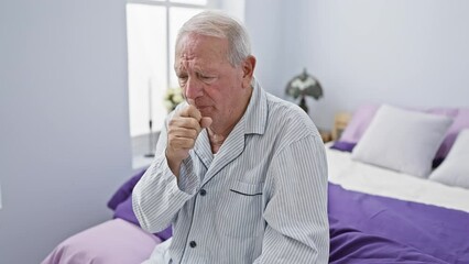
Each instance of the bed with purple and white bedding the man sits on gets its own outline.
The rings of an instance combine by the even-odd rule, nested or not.
[[[326,144],[329,263],[469,263],[469,109],[364,105]],[[131,191],[114,218],[59,243],[42,264],[132,264],[171,238],[139,228]]]

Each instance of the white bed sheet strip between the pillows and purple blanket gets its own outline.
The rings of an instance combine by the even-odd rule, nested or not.
[[[352,161],[326,144],[329,182],[345,189],[469,212],[469,190]]]

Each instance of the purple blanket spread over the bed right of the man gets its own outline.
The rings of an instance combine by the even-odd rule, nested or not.
[[[330,263],[469,263],[469,213],[329,184]]]

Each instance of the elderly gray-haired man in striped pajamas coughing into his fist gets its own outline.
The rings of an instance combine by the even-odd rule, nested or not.
[[[302,109],[261,88],[254,67],[246,29],[222,13],[197,14],[178,33],[186,101],[133,190],[143,229],[173,224],[155,250],[164,263],[328,262],[321,138]]]

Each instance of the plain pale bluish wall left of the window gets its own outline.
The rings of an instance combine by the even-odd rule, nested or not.
[[[131,175],[124,0],[2,1],[0,263],[40,263]]]

